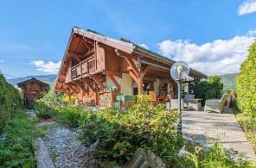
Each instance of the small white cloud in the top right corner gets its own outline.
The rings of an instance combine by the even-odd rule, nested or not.
[[[256,0],[247,0],[238,7],[238,15],[243,16],[256,12]]]

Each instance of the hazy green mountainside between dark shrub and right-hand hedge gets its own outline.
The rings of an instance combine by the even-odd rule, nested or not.
[[[236,78],[239,73],[221,75],[223,90],[236,90]]]

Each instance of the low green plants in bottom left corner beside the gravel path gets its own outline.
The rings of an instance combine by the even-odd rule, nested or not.
[[[24,111],[16,113],[3,129],[0,167],[34,167],[32,141],[36,134],[35,121],[28,119]]]

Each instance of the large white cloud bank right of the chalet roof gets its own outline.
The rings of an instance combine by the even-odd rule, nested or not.
[[[250,35],[236,35],[229,40],[213,40],[202,45],[189,40],[163,40],[157,47],[170,59],[188,62],[190,67],[214,75],[239,72],[253,39]]]

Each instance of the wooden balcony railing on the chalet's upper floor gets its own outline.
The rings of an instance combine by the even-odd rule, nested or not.
[[[91,56],[71,68],[71,78],[83,78],[86,77],[88,73],[95,72],[95,70],[96,59],[94,56]]]

